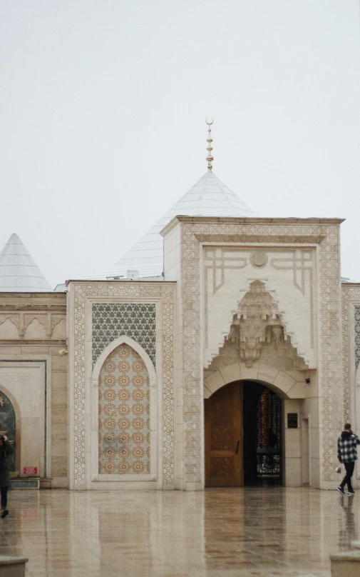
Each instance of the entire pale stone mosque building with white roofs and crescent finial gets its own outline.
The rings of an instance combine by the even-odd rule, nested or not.
[[[257,217],[212,172],[210,126],[207,173],[110,271],[52,291],[16,234],[1,251],[14,486],[336,487],[360,428],[341,219]]]

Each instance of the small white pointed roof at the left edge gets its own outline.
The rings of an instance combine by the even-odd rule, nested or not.
[[[0,291],[52,292],[45,276],[17,234],[11,234],[0,253]]]

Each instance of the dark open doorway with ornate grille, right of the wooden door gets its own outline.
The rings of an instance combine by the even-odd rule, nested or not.
[[[244,484],[282,484],[281,398],[264,385],[243,381]]]

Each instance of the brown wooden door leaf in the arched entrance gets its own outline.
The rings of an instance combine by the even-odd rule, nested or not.
[[[242,463],[242,383],[230,383],[205,399],[205,485],[240,487]]]

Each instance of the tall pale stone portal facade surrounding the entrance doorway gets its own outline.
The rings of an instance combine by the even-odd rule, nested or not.
[[[183,407],[183,423],[178,427],[178,439],[183,443],[179,488],[204,486],[203,371],[219,354],[242,298],[254,280],[264,283],[277,304],[282,330],[297,348],[299,363],[300,359],[305,363],[307,370],[301,374],[301,383],[310,378],[305,399],[300,403],[287,397],[291,387],[285,379],[282,388],[281,371],[275,376],[277,388],[286,399],[285,411],[292,408],[303,416],[311,415],[307,418],[311,437],[310,483],[320,488],[334,485],[334,447],[343,418],[340,224],[339,219],[178,216],[163,230],[165,279],[178,281],[177,338],[181,352],[176,388],[178,405]],[[243,374],[241,362],[240,373]],[[259,378],[256,368],[248,374],[252,376],[246,378]],[[293,384],[297,378],[300,377],[292,379]],[[264,383],[269,380],[264,379]],[[301,483],[300,443],[300,431],[289,431],[284,450],[297,463],[285,463],[287,485]]]

